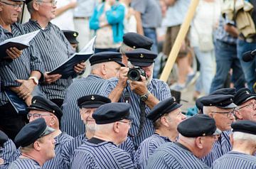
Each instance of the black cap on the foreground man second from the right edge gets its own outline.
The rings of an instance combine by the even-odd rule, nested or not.
[[[215,120],[206,114],[196,114],[178,124],[178,132],[186,137],[213,136],[221,133]]]

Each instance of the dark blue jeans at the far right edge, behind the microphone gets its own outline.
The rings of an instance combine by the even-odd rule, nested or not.
[[[242,54],[249,51],[255,50],[256,43],[247,43],[244,40],[238,40],[238,58],[240,59],[242,70],[245,73],[245,80],[247,82],[248,88],[253,92],[252,89],[253,84],[256,82],[256,60],[252,60],[250,62],[242,61]]]

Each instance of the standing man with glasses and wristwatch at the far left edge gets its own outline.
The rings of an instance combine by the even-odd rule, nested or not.
[[[0,42],[26,33],[23,26],[16,23],[18,14],[22,11],[23,1],[3,0],[0,5]],[[16,59],[11,62],[6,60],[0,62],[1,87],[15,92],[28,105],[31,104],[31,93],[38,84],[38,80],[43,80],[41,77],[44,72],[43,63],[38,58],[39,53],[34,48],[33,40],[30,45],[22,51],[9,48],[6,50],[7,55]],[[5,54],[1,53],[1,55]],[[26,116],[17,114],[18,112],[4,94],[4,90],[0,91],[0,129],[14,140],[18,131],[26,124]]]

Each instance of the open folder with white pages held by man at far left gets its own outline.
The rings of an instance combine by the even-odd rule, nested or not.
[[[16,47],[18,50],[28,48],[29,42],[39,33],[39,31],[40,30],[33,31],[31,33],[26,33],[22,36],[16,36],[14,38],[4,40],[0,43],[0,53],[6,53],[7,49],[13,47]],[[6,55],[1,55],[1,58],[6,57]]]

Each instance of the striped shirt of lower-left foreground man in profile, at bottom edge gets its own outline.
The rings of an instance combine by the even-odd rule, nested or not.
[[[41,166],[30,158],[18,158],[11,163],[9,169],[41,169]]]

